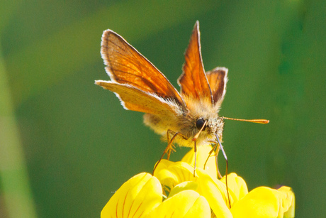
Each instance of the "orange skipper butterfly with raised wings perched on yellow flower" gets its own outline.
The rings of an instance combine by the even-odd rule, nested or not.
[[[220,141],[224,120],[231,118],[218,113],[225,97],[228,70],[225,67],[204,70],[198,21],[186,49],[183,73],[178,79],[180,92],[157,67],[111,30],[103,32],[101,57],[111,81],[96,80],[96,85],[114,92],[125,109],[145,113],[144,123],[168,142],[161,159],[165,153],[169,158],[174,150],[173,143],[194,147],[195,168],[197,146],[214,143],[215,148],[218,146],[223,151]],[[269,122],[264,119],[233,120]],[[226,158],[224,151],[223,155]]]

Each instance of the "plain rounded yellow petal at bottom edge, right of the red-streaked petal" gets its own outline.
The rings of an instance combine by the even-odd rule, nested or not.
[[[210,217],[210,207],[207,200],[193,190],[185,190],[169,197],[153,209],[148,218],[160,217]]]

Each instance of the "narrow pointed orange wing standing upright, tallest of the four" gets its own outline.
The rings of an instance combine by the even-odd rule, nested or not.
[[[201,58],[201,41],[199,22],[197,21],[191,35],[188,48],[185,53],[186,62],[183,66],[183,73],[178,83],[181,87],[181,94],[186,94],[194,99],[208,99],[213,104],[213,99],[208,85],[208,80]]]

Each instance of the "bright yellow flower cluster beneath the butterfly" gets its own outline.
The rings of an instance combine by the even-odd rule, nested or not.
[[[290,187],[257,187],[248,192],[245,180],[235,173],[227,175],[230,207],[225,177],[217,179],[215,158],[209,158],[203,169],[210,150],[210,146],[198,148],[195,177],[189,151],[180,162],[161,160],[154,176],[140,173],[130,178],[103,208],[101,218],[294,217]]]

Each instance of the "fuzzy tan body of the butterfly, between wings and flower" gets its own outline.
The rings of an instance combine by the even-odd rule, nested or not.
[[[218,116],[220,104],[212,106],[211,102],[208,101],[186,96],[183,98],[186,102],[186,109],[178,107],[176,113],[165,116],[145,114],[145,124],[162,135],[164,141],[167,141],[168,130],[171,132],[169,138],[172,138],[173,133],[180,133],[182,136],[177,136],[174,140],[179,146],[193,147],[193,136],[199,131],[196,127],[198,119],[207,121],[205,128],[196,139],[198,146],[215,141],[215,134],[222,138],[224,122]]]

